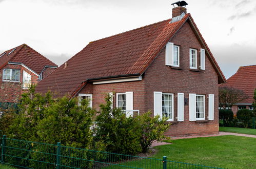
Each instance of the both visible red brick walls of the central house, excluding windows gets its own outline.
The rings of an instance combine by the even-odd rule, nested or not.
[[[171,38],[170,42],[180,46],[179,69],[165,66],[165,49],[161,51],[142,76],[141,81],[107,83],[92,85],[89,82],[79,93],[92,94],[92,106],[99,110],[99,104],[104,103],[104,94],[108,92],[133,92],[133,110],[140,113],[151,110],[153,113],[153,92],[174,94],[174,121],[166,135],[194,135],[219,132],[218,118],[218,74],[214,70],[209,56],[205,57],[205,70],[189,69],[189,49],[197,49],[198,68],[200,66],[199,43],[188,22]],[[189,121],[189,105],[184,105],[184,121],[177,122],[177,93],[184,93],[189,99],[189,93],[205,95],[205,120]],[[214,94],[214,120],[208,121],[208,94]],[[116,95],[115,95],[116,97]],[[115,101],[114,101],[115,106]]]

